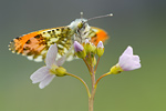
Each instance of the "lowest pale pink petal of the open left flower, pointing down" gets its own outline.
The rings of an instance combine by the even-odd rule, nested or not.
[[[40,84],[39,84],[39,88],[40,89],[43,89],[44,87],[46,87],[54,78],[55,75],[54,74],[49,74],[46,78],[44,78]]]

